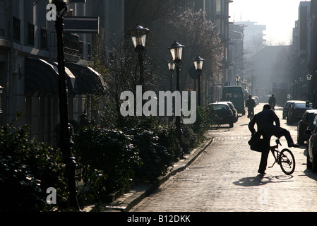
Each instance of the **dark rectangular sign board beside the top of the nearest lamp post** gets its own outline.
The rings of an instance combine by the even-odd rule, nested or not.
[[[65,16],[64,32],[99,34],[99,17]]]

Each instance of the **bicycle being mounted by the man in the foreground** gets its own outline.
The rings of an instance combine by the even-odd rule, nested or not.
[[[278,145],[282,145],[280,143],[280,138],[277,138],[275,143],[276,145],[270,146],[270,151],[275,158],[275,162],[269,168],[272,168],[275,165],[275,163],[277,163],[278,165],[280,165],[282,172],[284,172],[287,175],[292,174],[295,170],[295,157],[293,153],[287,148],[284,148],[281,151],[278,150]]]

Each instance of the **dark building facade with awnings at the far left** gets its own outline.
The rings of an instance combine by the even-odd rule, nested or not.
[[[123,7],[124,1],[86,0],[68,4],[67,16],[100,16],[99,35],[108,37],[114,27],[123,32]],[[49,10],[47,1],[0,1],[0,126],[29,124],[30,138],[56,145],[57,48],[54,20],[47,20]],[[106,17],[107,12],[111,13]],[[106,40],[105,46],[109,43]],[[79,122],[82,114],[93,117],[90,97],[104,94],[102,78],[89,66],[93,44],[92,34],[64,32],[70,121]]]

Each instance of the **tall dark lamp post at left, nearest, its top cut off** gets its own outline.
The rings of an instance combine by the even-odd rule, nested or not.
[[[67,0],[50,0],[50,4],[56,6],[56,36],[57,36],[57,61],[59,70],[59,114],[60,114],[60,141],[59,146],[63,154],[64,163],[66,165],[66,178],[68,181],[69,191],[69,205],[79,210],[77,201],[75,169],[77,162],[71,153],[73,141],[71,140],[70,124],[68,123],[68,104],[66,93],[66,76],[65,76],[65,59],[64,59],[64,44],[63,44],[63,30],[64,30],[64,15],[67,12]]]

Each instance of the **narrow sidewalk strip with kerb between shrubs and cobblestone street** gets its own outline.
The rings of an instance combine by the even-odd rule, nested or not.
[[[128,212],[133,206],[136,206],[136,204],[142,201],[143,198],[155,191],[155,189],[166,182],[170,177],[191,165],[191,163],[196,160],[196,158],[201,155],[212,142],[212,132],[208,131],[205,142],[198,146],[198,148],[192,150],[191,153],[185,155],[184,160],[179,160],[179,162],[176,162],[173,166],[169,167],[166,175],[159,177],[153,184],[138,184],[133,186],[130,191],[119,198],[116,198],[112,203],[102,203],[100,205],[100,208],[102,209],[101,212]],[[85,206],[83,212],[90,212],[94,207],[95,205]]]

